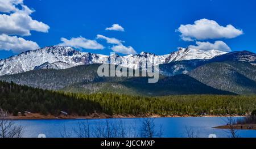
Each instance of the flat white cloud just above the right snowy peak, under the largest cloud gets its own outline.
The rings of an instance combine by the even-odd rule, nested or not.
[[[188,48],[199,50],[221,50],[224,52],[230,52],[231,49],[223,41],[215,41],[214,44],[210,42],[196,42],[197,45],[189,45]]]

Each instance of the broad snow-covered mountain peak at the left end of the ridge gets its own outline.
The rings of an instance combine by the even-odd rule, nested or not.
[[[49,68],[67,69],[69,67],[97,63],[104,59],[100,54],[79,52],[71,47],[48,46],[43,49],[30,50],[0,61],[0,75],[16,74],[25,71],[47,68],[46,63],[51,64]],[[54,64],[53,64],[54,63]],[[65,65],[64,65],[65,63]],[[56,67],[53,65],[57,65]],[[61,66],[62,65],[62,66]]]

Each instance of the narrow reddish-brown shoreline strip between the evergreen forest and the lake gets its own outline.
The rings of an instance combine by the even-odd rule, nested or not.
[[[148,114],[144,116],[133,116],[133,115],[121,115],[121,114],[114,114],[113,116],[110,116],[108,114],[98,114],[93,113],[90,116],[76,116],[76,115],[70,115],[70,116],[53,116],[53,115],[47,115],[44,116],[42,114],[38,113],[30,113],[26,114],[24,116],[9,116],[8,118],[12,120],[85,120],[85,119],[108,119],[108,118],[182,118],[182,117],[229,117],[229,116],[218,116],[218,115],[199,115],[199,116],[160,116],[157,114]],[[232,117],[245,117],[244,115],[233,115]]]

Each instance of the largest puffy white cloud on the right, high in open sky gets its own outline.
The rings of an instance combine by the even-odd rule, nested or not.
[[[196,20],[194,24],[180,25],[176,31],[181,33],[181,39],[184,41],[232,39],[243,34],[241,29],[236,29],[231,24],[224,27],[216,21],[208,19]]]

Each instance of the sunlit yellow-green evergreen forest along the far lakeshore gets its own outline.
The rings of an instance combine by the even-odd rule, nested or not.
[[[199,116],[246,114],[256,107],[256,96],[232,95],[179,95],[164,97],[143,97],[116,95],[111,93],[85,95],[101,104],[104,111],[113,114],[159,114],[162,116]]]

